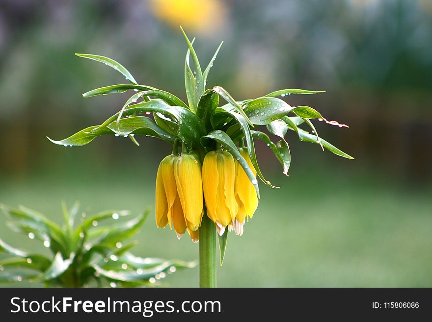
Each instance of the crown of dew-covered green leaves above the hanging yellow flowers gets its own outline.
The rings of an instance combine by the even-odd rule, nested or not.
[[[126,68],[110,58],[77,54],[107,64],[132,83],[98,88],[84,93],[84,97],[124,93],[128,90],[134,90],[138,93],[128,99],[120,111],[108,118],[103,124],[87,127],[64,140],[50,140],[63,146],[81,146],[91,142],[97,136],[114,134],[116,136],[129,136],[138,145],[135,135],[145,135],[162,139],[170,144],[173,144],[174,140],[177,139],[179,142],[185,143],[186,149],[193,150],[201,158],[208,151],[221,147],[229,151],[242,165],[254,185],[258,197],[258,182],[238,150],[238,146],[243,146],[244,141],[258,177],[272,188],[276,187],[265,179],[258,166],[254,139],[264,140],[267,143],[267,146],[283,166],[283,173],[287,176],[291,165],[291,152],[285,140],[288,129],[295,131],[300,141],[319,144],[323,150],[325,148],[336,155],[353,159],[349,154],[337,149],[318,136],[315,126],[310,121],[311,119],[325,120],[318,111],[309,106],[290,106],[284,100],[277,98],[284,98],[291,94],[317,94],[324,91],[282,89],[264,97],[237,101],[220,86],[206,90],[207,76],[222,44],[217,48],[203,73],[193,48],[195,39],[189,41],[183,29],[182,32],[188,44],[185,60],[185,88],[189,106],[171,93],[147,85],[138,85]],[[227,103],[219,106],[220,98]],[[137,102],[138,99],[143,101]],[[140,116],[144,113],[153,113],[154,121],[148,117]],[[346,126],[338,124],[336,121],[331,122],[340,127]],[[301,129],[299,127],[301,124],[308,125],[314,134]],[[268,134],[257,131],[256,126],[259,125],[266,125],[270,135],[276,136],[278,142],[273,143]],[[219,246],[221,260],[223,260],[226,237],[220,240]],[[104,275],[103,268],[97,272]]]

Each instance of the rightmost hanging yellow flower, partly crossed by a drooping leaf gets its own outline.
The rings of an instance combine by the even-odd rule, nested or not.
[[[256,177],[256,170],[250,161],[247,148],[240,148],[240,154],[246,160],[249,168],[252,170]],[[236,180],[235,180],[235,195],[237,203],[239,204],[239,211],[236,218],[233,220],[232,229],[237,235],[243,235],[244,221],[253,217],[253,214],[258,207],[258,197],[255,187],[250,182],[247,174],[244,172],[243,167],[239,162],[236,163]]]

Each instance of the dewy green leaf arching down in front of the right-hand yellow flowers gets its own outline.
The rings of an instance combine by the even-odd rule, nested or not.
[[[207,134],[206,136],[203,136],[201,138],[200,141],[201,141],[201,145],[203,147],[207,146],[206,140],[208,140],[208,139],[215,140],[218,144],[223,145],[227,149],[227,151],[233,155],[234,159],[236,159],[237,162],[239,162],[240,165],[242,166],[242,168],[243,168],[244,172],[247,174],[247,177],[249,178],[250,182],[252,182],[253,186],[255,187],[258,198],[260,198],[260,190],[258,188],[258,181],[255,178],[255,174],[253,174],[252,170],[247,165],[246,160],[244,160],[243,156],[239,152],[239,149],[237,149],[236,145],[231,140],[231,138],[225,132],[223,132],[221,130],[212,131],[209,134]]]

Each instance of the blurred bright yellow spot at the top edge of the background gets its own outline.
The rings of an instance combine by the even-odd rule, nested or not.
[[[153,14],[165,23],[201,34],[218,29],[226,7],[220,0],[151,0]]]

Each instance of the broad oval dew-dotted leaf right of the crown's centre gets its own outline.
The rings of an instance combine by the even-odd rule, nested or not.
[[[292,107],[282,99],[259,98],[244,104],[244,113],[253,124],[267,125],[287,115]]]

